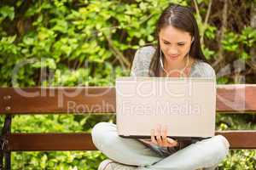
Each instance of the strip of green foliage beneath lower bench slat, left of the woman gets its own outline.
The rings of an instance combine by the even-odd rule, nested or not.
[[[100,151],[66,152],[14,152],[13,169],[55,169],[77,170],[97,169],[100,161],[106,159]]]

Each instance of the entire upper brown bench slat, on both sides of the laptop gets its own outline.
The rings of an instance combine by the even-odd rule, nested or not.
[[[114,87],[0,88],[0,114],[114,113]],[[10,99],[6,99],[10,96]],[[218,85],[218,112],[255,112],[256,84]],[[4,99],[5,98],[5,99]],[[8,110],[9,109],[9,110]]]

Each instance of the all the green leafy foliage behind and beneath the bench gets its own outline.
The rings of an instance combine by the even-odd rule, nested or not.
[[[115,77],[129,76],[135,49],[154,44],[155,23],[169,3],[188,0],[53,0],[3,1],[0,4],[0,84],[2,87],[112,86]],[[209,1],[197,1],[206,14]],[[251,3],[250,3],[251,4]],[[218,54],[218,30],[195,15],[203,52],[209,61]],[[256,31],[227,28],[221,45],[224,55],[251,59]],[[212,44],[215,44],[212,45]],[[235,56],[235,57],[234,57]],[[42,73],[45,77],[41,77]],[[218,83],[230,83],[218,77]],[[249,120],[255,120],[250,117]],[[3,122],[3,116],[1,117]],[[114,116],[15,116],[12,132],[90,132],[97,122]],[[236,122],[237,121],[237,122]],[[219,116],[221,130],[255,129],[236,116]],[[251,123],[251,124],[250,124]],[[2,123],[3,124],[3,123]],[[244,127],[244,125],[248,125]],[[99,151],[15,152],[13,169],[96,169],[105,159]],[[231,150],[220,169],[253,169],[255,151]]]

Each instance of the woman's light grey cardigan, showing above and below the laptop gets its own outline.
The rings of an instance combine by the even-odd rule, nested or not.
[[[149,77],[148,71],[154,52],[155,48],[152,46],[139,48],[137,50],[131,65],[131,77]],[[191,66],[189,77],[216,77],[216,75],[211,65],[201,60],[197,60]],[[177,150],[181,150],[184,147],[188,146],[189,144],[195,143],[197,141],[198,139],[191,139],[190,141],[181,143],[180,147],[178,148],[166,148],[151,144],[146,145],[148,145],[152,150],[155,150],[157,153],[159,153],[160,156],[169,156],[170,154],[176,152]]]

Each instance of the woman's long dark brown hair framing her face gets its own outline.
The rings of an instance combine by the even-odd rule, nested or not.
[[[160,53],[162,52],[160,52],[159,33],[160,29],[164,28],[165,26],[174,26],[179,30],[189,32],[191,37],[194,37],[194,42],[191,44],[191,48],[189,50],[189,56],[203,61],[207,60],[201,50],[199,30],[191,9],[174,4],[164,10],[157,22],[155,30],[157,46],[154,56],[150,62],[148,72],[149,77],[160,77]]]

